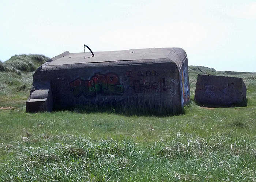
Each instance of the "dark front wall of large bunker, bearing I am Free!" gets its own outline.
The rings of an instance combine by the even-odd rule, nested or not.
[[[54,109],[99,105],[178,114],[190,96],[187,69],[187,60],[181,72],[173,62],[42,66],[33,86],[37,90],[41,83],[50,83]]]

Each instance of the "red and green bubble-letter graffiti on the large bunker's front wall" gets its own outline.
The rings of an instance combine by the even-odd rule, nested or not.
[[[96,94],[123,94],[124,85],[116,73],[95,73],[89,80],[75,79],[69,83],[71,91],[75,96],[84,94],[95,96]]]

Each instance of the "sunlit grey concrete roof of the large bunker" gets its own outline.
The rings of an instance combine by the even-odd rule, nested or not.
[[[53,57],[42,66],[63,67],[72,64],[90,63],[116,63],[116,64],[135,64],[135,63],[157,63],[174,62],[180,70],[182,63],[186,60],[187,54],[181,48],[150,48],[150,49],[130,49],[106,52],[94,52],[94,57],[90,52],[69,53],[64,52]],[[121,62],[122,61],[122,62]]]

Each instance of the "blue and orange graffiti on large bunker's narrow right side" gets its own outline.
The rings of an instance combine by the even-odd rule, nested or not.
[[[188,66],[184,65],[184,68],[180,71],[180,73],[181,105],[184,106],[190,100],[190,93],[188,88]]]

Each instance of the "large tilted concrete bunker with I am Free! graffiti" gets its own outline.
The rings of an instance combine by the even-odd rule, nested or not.
[[[181,48],[94,54],[65,52],[39,67],[27,112],[97,105],[172,115],[190,99],[187,54]],[[42,109],[31,109],[36,105]]]

